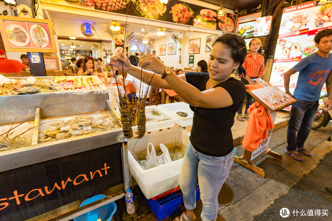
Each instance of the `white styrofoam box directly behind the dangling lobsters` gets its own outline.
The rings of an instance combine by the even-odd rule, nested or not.
[[[151,111],[157,111],[161,113],[161,116],[153,116],[151,115]],[[151,132],[151,131],[158,131],[161,129],[169,128],[169,127],[174,127],[175,125],[175,120],[176,118],[170,114],[168,111],[165,109],[159,108],[156,105],[151,105],[151,106],[146,106],[145,107],[145,116],[150,117],[150,118],[155,118],[156,120],[158,119],[163,119],[163,121],[159,122],[146,122],[145,124],[145,133]],[[169,119],[169,120],[164,120],[164,119]],[[132,127],[132,132],[135,133],[137,131],[137,126]]]

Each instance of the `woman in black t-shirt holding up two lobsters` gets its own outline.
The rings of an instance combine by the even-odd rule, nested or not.
[[[180,187],[186,212],[175,221],[196,219],[196,186],[200,184],[203,221],[215,220],[218,214],[218,193],[234,161],[231,127],[245,98],[246,90],[240,81],[230,77],[245,74],[242,67],[246,44],[238,35],[225,33],[215,39],[208,59],[208,73],[176,75],[153,54],[143,55],[139,61],[144,83],[173,89],[194,111],[190,143],[183,159]],[[141,78],[141,68],[133,67],[120,52],[111,62],[135,78]],[[161,75],[161,78],[158,77]]]

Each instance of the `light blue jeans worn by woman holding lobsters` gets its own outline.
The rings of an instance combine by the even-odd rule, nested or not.
[[[180,188],[187,209],[196,207],[196,187],[200,185],[203,221],[215,220],[218,214],[218,194],[234,162],[234,151],[226,156],[214,157],[197,151],[188,144],[183,158]]]

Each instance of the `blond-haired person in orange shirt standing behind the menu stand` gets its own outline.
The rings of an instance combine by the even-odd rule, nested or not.
[[[250,52],[247,54],[246,59],[244,60],[243,67],[246,70],[247,75],[241,78],[241,82],[246,84],[256,84],[257,82],[253,81],[255,78],[262,78],[265,71],[264,57],[260,55],[257,51],[262,47],[262,42],[259,38],[253,38],[249,43]],[[242,115],[242,107],[237,112],[237,119],[239,121],[248,120],[249,115],[247,110],[250,105],[254,103],[254,97],[247,93],[247,104],[246,110],[244,111],[244,117]]]

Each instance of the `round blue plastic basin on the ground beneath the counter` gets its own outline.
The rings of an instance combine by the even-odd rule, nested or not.
[[[97,201],[99,199],[102,199],[104,197],[106,197],[106,196],[103,194],[95,195],[91,198],[84,200],[81,203],[80,207],[84,206],[86,204],[89,204],[91,202]],[[111,219],[116,211],[117,211],[117,204],[115,204],[115,202],[111,202],[105,206],[99,207],[98,209],[94,209],[90,212],[80,215],[80,216],[74,218],[73,220],[74,221],[97,221],[98,219],[101,219],[101,221],[104,221],[104,220],[111,221]]]

